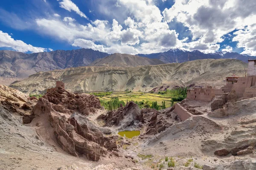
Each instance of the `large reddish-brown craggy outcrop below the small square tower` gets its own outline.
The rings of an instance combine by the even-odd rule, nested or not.
[[[38,134],[44,138],[47,130],[48,136],[51,136],[47,140],[57,142],[65,152],[98,161],[107,150],[117,146],[114,137],[105,137],[103,129],[97,128],[82,116],[93,114],[95,108],[101,108],[95,96],[74,95],[58,88],[38,100],[33,108],[34,119],[31,123],[40,122]]]

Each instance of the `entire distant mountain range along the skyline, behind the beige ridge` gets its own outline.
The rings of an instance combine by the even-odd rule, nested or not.
[[[169,50],[155,54],[107,54],[92,49],[71,51],[57,50],[25,54],[17,51],[0,51],[0,84],[9,85],[38,71],[61,70],[80,66],[136,67],[139,65],[158,65],[163,63],[181,63],[196,59],[239,59],[247,62],[248,58],[238,53],[217,52],[204,54],[198,50]]]

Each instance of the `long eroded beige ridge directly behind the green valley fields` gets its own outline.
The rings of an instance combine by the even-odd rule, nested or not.
[[[57,80],[73,92],[147,91],[169,83],[171,85],[223,85],[223,79],[236,74],[244,76],[247,64],[236,59],[202,59],[184,63],[146,65],[130,68],[78,67],[48,72],[38,72],[11,85],[26,94],[54,87]]]

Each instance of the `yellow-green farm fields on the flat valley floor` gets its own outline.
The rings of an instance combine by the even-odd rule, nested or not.
[[[166,108],[171,107],[172,104],[172,97],[162,95],[162,94],[151,94],[151,93],[143,93],[143,92],[131,92],[131,93],[126,93],[125,91],[114,91],[110,95],[106,96],[97,96],[101,101],[107,102],[110,101],[111,99],[118,97],[119,100],[124,101],[125,103],[128,101],[134,101],[134,102],[144,102],[148,103],[149,106],[152,105],[152,102],[157,101],[157,105],[162,105],[162,101],[165,101]],[[176,102],[174,102],[176,103]],[[143,105],[143,108],[145,104]]]

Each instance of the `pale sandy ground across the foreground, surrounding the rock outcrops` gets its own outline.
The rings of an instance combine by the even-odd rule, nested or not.
[[[201,105],[201,111],[209,109],[209,103],[188,102],[189,105]],[[88,116],[95,125],[102,126],[96,118],[106,113],[105,110],[97,110],[94,115]],[[242,136],[250,136],[250,128],[256,127],[256,123],[241,125],[242,120],[256,118],[256,114],[239,114],[227,118],[210,118],[207,113],[202,115],[207,119],[216,122],[219,129],[210,125],[203,119],[196,123],[180,122],[176,124],[179,131],[172,133],[175,125],[169,127],[163,135],[156,140],[156,136],[141,139],[119,138],[118,154],[101,157],[98,162],[88,161],[84,158],[76,158],[58,149],[57,144],[47,144],[40,139],[34,126],[23,125],[20,116],[0,116],[0,170],[158,170],[163,164],[162,170],[186,170],[197,169],[193,165],[218,165],[231,163],[235,160],[256,159],[255,150],[253,153],[242,156],[216,156],[214,148],[204,146],[207,140],[224,142],[225,138],[233,131],[240,131],[241,134],[233,135],[237,140]],[[191,128],[187,128],[191,126]],[[193,127],[192,127],[193,126]],[[116,127],[110,127],[112,135],[116,135]],[[137,129],[143,131],[143,128]],[[253,129],[252,129],[253,130]],[[254,129],[255,130],[255,129]],[[169,133],[170,132],[170,133]],[[250,137],[255,137],[251,135]],[[150,157],[143,159],[140,154]],[[168,167],[165,157],[175,161],[175,167]],[[190,160],[189,167],[184,164]],[[157,167],[158,166],[158,167]]]

